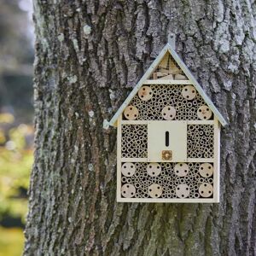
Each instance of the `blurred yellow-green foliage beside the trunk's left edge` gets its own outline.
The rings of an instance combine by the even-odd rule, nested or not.
[[[0,113],[0,224],[23,226],[26,192],[32,168],[32,135],[29,125],[15,126],[10,114]],[[4,120],[4,122],[3,122]],[[12,223],[10,223],[12,222]]]

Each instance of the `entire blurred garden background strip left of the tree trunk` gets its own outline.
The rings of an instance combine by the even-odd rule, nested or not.
[[[0,256],[20,255],[32,166],[31,0],[0,3]]]

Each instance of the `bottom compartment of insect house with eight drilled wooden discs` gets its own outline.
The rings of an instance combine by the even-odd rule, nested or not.
[[[217,202],[213,163],[123,162],[118,201]]]

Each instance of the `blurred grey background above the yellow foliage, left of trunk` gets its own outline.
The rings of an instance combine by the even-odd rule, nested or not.
[[[32,33],[30,1],[2,0],[0,8],[0,109],[19,121],[32,119]]]

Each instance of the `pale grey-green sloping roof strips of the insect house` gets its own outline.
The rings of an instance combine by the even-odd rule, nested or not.
[[[172,44],[167,43],[166,46],[160,51],[160,54],[156,57],[156,59],[153,61],[153,63],[148,67],[148,70],[146,73],[144,73],[143,77],[138,81],[136,86],[131,90],[130,95],[125,99],[125,102],[121,105],[119,110],[113,115],[113,118],[109,121],[109,125],[116,126],[117,119],[119,118],[119,115],[123,113],[125,108],[129,105],[132,98],[137,94],[137,91],[143,86],[143,83],[148,79],[150,74],[154,71],[154,69],[158,66],[164,55],[166,55],[166,52],[169,52],[173,59],[177,62],[177,65],[181,67],[183,70],[183,73],[187,76],[191,84],[195,86],[195,89],[199,92],[201,97],[207,102],[207,105],[209,108],[211,108],[212,113],[215,114],[218,121],[221,123],[221,125],[225,126],[228,125],[227,121],[224,119],[221,113],[219,113],[218,109],[214,106],[211,99],[206,95],[205,91],[201,88],[201,85],[196,81],[193,74],[189,71],[189,68],[185,65],[185,63],[182,61],[182,59],[177,55],[177,52],[172,48]]]

